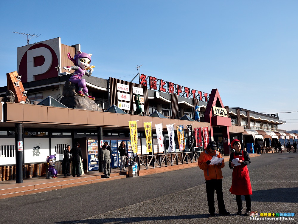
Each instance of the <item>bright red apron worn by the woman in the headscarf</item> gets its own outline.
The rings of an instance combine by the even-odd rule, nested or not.
[[[236,158],[245,161],[243,151],[242,156],[235,156],[234,152],[234,159]],[[246,165],[241,164],[234,167],[230,192],[236,195],[252,194],[252,185],[250,184],[249,173]]]

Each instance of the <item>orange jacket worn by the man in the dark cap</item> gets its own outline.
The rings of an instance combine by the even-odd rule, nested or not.
[[[221,158],[220,152],[216,151],[216,157]],[[222,179],[224,178],[221,172],[221,168],[224,168],[224,160],[219,165],[207,165],[207,161],[211,160],[212,156],[205,150],[201,152],[198,159],[198,165],[201,170],[204,170],[205,180]]]

